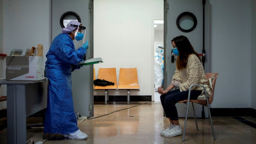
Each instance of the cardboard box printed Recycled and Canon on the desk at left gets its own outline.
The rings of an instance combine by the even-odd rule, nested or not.
[[[44,57],[6,57],[6,80],[36,81],[40,79],[44,79]]]

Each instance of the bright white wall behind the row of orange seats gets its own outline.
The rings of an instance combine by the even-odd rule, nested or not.
[[[131,95],[153,95],[154,20],[163,19],[163,9],[163,1],[94,1],[94,58],[103,59],[94,65],[96,78],[99,68],[116,68],[118,82],[119,68],[137,68],[140,91]]]

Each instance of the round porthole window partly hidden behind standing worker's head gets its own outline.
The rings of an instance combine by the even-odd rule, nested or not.
[[[76,20],[81,23],[81,19],[77,13],[71,11],[63,13],[60,17],[61,28],[66,28],[68,23],[72,20]]]

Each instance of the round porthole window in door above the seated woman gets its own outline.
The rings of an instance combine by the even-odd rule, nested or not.
[[[178,16],[176,20],[176,25],[180,31],[183,31],[184,33],[189,33],[196,28],[196,16],[191,12],[183,12]]]

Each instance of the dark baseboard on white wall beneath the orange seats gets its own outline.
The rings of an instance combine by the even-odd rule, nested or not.
[[[109,101],[127,101],[127,95],[109,95]],[[94,95],[94,101],[105,101],[105,95]],[[151,95],[130,95],[130,101],[151,101]]]

